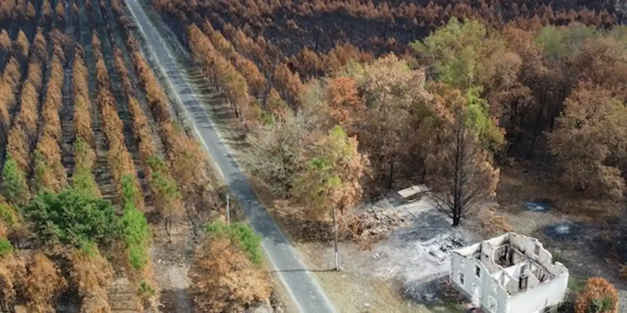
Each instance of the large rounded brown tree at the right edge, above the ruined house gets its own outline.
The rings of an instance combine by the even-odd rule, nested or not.
[[[627,109],[599,86],[581,84],[565,101],[559,129],[548,135],[561,181],[594,197],[623,198]]]

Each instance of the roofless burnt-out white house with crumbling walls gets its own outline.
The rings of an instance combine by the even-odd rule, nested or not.
[[[568,269],[537,239],[505,233],[454,250],[450,280],[485,312],[544,313],[564,300]]]

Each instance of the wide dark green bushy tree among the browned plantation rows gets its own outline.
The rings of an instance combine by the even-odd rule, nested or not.
[[[44,192],[24,208],[40,239],[58,240],[77,248],[108,244],[117,233],[115,208],[108,200],[76,190]]]

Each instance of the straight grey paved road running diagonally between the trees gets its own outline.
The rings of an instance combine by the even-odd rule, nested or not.
[[[173,51],[167,44],[164,44],[164,38],[149,20],[137,0],[127,0],[127,4],[140,31],[147,39],[147,45],[154,53],[155,60],[160,64],[167,80],[172,85],[172,90],[176,93],[175,96],[179,98],[178,100],[186,109],[196,135],[201,139],[204,148],[219,168],[219,172],[221,172],[219,174],[231,190],[236,193],[238,202],[243,205],[251,226],[255,232],[261,235],[261,244],[266,256],[277,271],[295,306],[300,309],[300,312],[334,312],[333,305],[319,284],[307,272],[307,268],[298,257],[297,252],[270,215],[261,207],[240,167],[224,146],[207,111],[194,93],[192,85],[187,83],[184,74],[181,74],[184,73],[185,69],[177,63]]]

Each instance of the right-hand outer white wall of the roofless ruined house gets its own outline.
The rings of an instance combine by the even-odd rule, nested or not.
[[[549,305],[559,304],[564,300],[568,273],[536,285],[525,292],[515,294],[508,301],[507,313],[536,313]]]

